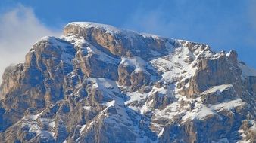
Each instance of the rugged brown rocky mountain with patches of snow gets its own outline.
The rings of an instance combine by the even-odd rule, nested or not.
[[[1,142],[256,141],[256,71],[234,50],[69,23],[2,78]]]

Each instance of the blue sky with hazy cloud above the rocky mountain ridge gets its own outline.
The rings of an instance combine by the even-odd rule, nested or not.
[[[4,37],[1,32],[21,36],[25,32],[27,36],[24,36],[23,41],[28,41],[23,44],[20,40],[17,43],[20,46],[5,46],[5,55],[9,52],[17,53],[17,57],[24,56],[31,47],[27,45],[35,42],[33,38],[43,34],[58,35],[63,26],[72,21],[92,21],[198,41],[209,44],[213,50],[234,49],[238,51],[240,60],[256,68],[256,0],[1,0],[0,22],[1,17],[2,23],[8,28],[2,28],[2,31],[0,28],[0,48],[1,38]],[[33,24],[27,24],[30,20]],[[23,24],[15,25],[15,31],[7,31],[12,29],[13,21]],[[31,33],[37,28],[41,34]],[[14,41],[5,41],[8,40]]]

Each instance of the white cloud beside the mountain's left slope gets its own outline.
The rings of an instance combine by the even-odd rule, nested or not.
[[[44,26],[32,8],[18,5],[0,14],[0,75],[8,65],[23,62],[33,44],[45,35],[61,35],[61,32]]]

